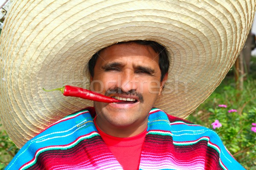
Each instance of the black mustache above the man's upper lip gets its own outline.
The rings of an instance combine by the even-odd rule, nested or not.
[[[122,91],[121,88],[111,88],[105,92],[105,96],[110,96],[111,94],[123,94],[123,95],[134,96],[134,97],[137,97],[141,103],[144,102],[142,94],[138,93],[136,90],[133,90],[133,89],[128,92],[124,92]]]

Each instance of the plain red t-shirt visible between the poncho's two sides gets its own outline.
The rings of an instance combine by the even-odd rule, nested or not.
[[[94,124],[96,125],[95,122]],[[97,125],[96,128],[124,170],[137,170],[139,168],[141,149],[147,133],[146,129],[136,136],[119,138],[104,133]]]

